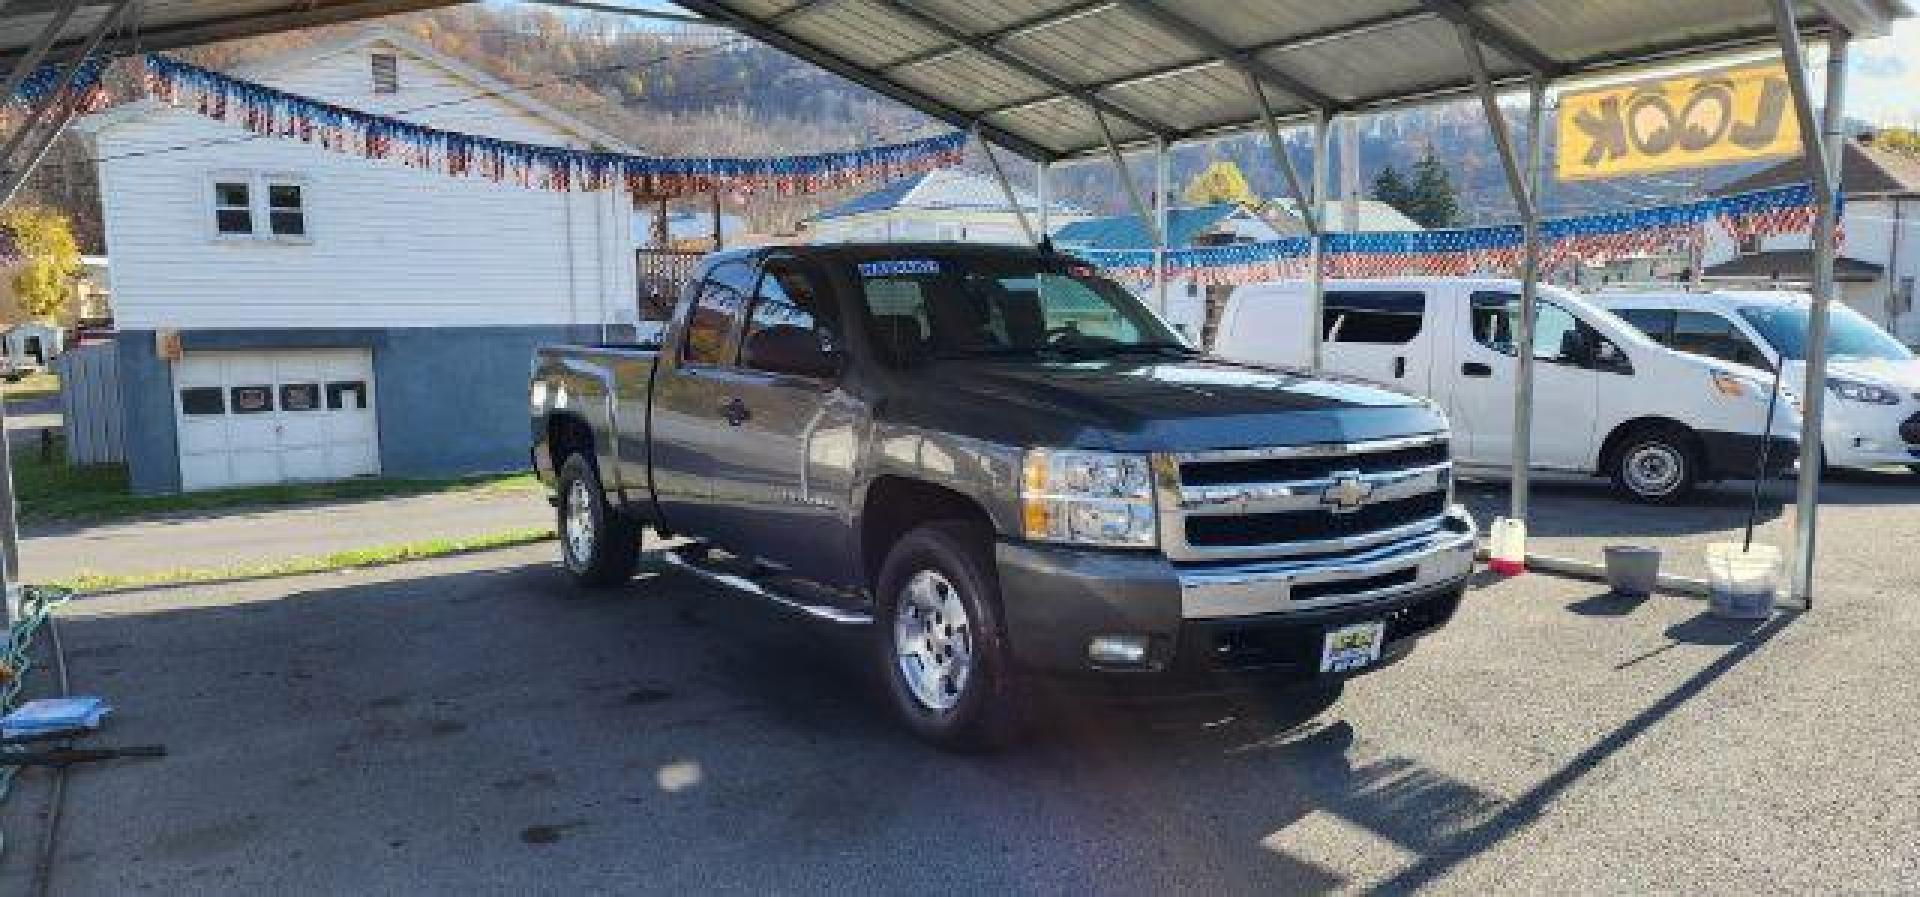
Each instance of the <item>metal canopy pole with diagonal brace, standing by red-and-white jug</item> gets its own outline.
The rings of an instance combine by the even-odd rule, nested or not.
[[[1526,111],[1532,138],[1523,167],[1519,154],[1513,152],[1513,133],[1507,129],[1507,115],[1500,109],[1500,94],[1494,92],[1494,81],[1486,73],[1486,56],[1480,52],[1480,42],[1467,25],[1457,25],[1455,31],[1461,54],[1467,56],[1467,67],[1473,71],[1473,86],[1480,94],[1480,111],[1486,115],[1486,127],[1494,134],[1494,148],[1500,152],[1500,165],[1507,173],[1507,192],[1513,194],[1513,206],[1521,213],[1521,321],[1513,334],[1513,482],[1507,515],[1515,521],[1526,521],[1526,476],[1532,471],[1534,438],[1534,319],[1538,313],[1534,305],[1536,279],[1540,275],[1540,209],[1534,207],[1534,192],[1538,190],[1540,159],[1546,150],[1546,83],[1534,79],[1528,92],[1530,106]]]

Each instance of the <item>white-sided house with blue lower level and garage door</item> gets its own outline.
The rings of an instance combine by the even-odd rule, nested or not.
[[[238,75],[447,131],[626,152],[384,29]],[[152,100],[81,129],[100,159],[136,492],[524,467],[532,348],[634,319],[624,190],[445,177]]]

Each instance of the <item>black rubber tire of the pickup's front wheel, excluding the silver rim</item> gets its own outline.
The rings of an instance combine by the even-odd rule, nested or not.
[[[1018,739],[1025,722],[1025,701],[1020,693],[1012,651],[1006,640],[1004,617],[1000,615],[1000,582],[989,559],[989,538],[979,526],[962,521],[937,521],[908,532],[887,551],[887,561],[879,569],[876,592],[876,653],[879,674],[887,682],[887,695],[895,713],[914,730],[916,736],[947,751],[991,751]],[[950,592],[943,595],[958,597],[966,611],[960,638],[948,630],[948,651],[952,643],[964,643],[970,663],[962,684],[945,690],[943,697],[950,707],[939,707],[918,697],[908,682],[908,665],[927,668],[924,649],[912,659],[902,659],[899,636],[900,615],[916,613],[910,607],[908,588],[924,574],[937,576],[935,586],[945,582]],[[943,618],[929,622],[922,613],[916,624],[941,628]],[[924,642],[922,642],[924,643]],[[952,653],[947,655],[948,659]]]

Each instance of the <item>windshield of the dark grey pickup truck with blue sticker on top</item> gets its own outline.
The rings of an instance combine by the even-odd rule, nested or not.
[[[856,267],[895,361],[1192,353],[1131,292],[1071,259],[941,257]]]

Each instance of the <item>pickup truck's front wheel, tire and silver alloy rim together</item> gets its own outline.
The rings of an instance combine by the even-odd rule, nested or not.
[[[881,676],[895,713],[948,751],[987,751],[1021,730],[987,540],[960,521],[924,524],[887,551],[876,592]]]

